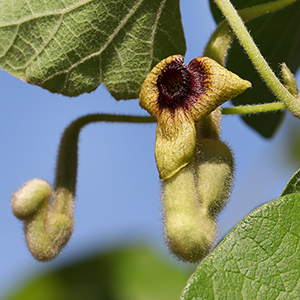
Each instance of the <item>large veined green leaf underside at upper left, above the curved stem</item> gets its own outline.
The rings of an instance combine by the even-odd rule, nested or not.
[[[185,53],[179,0],[0,1],[0,67],[54,93],[104,83],[137,98],[152,67]]]

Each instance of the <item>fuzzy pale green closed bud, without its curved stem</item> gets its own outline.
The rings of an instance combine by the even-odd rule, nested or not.
[[[73,232],[72,193],[60,188],[53,195],[48,182],[32,179],[13,194],[11,205],[14,215],[24,221],[31,254],[39,261],[55,258]]]

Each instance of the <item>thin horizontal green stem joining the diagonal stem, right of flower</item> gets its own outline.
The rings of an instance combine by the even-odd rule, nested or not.
[[[253,114],[262,113],[268,111],[286,109],[286,106],[282,102],[265,103],[258,105],[245,105],[236,107],[226,107],[222,109],[223,115],[235,115],[235,114]]]

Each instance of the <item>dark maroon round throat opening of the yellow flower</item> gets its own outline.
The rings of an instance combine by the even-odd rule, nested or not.
[[[190,92],[190,85],[190,72],[183,63],[168,64],[157,78],[159,107],[174,110],[184,106]]]

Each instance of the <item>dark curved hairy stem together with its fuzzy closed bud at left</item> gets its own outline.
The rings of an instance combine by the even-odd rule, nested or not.
[[[14,215],[24,221],[27,246],[39,261],[55,258],[66,245],[74,229],[78,137],[92,122],[152,123],[152,117],[87,115],[65,130],[57,158],[55,188],[43,179],[25,183],[12,197]],[[52,198],[52,201],[51,201]]]

